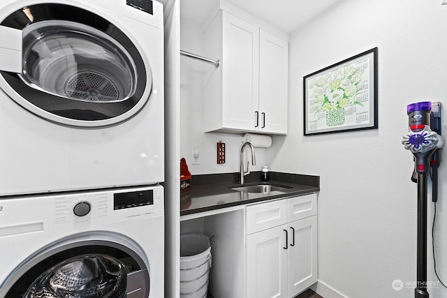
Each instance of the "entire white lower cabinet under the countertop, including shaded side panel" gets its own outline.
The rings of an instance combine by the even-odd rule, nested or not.
[[[182,222],[214,237],[214,298],[292,298],[317,278],[316,193]]]

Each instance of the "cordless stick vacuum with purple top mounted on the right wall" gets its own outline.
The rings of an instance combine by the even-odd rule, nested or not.
[[[440,103],[437,103],[439,107]],[[430,157],[441,149],[444,140],[430,128],[432,103],[412,103],[406,107],[409,116],[409,132],[404,135],[405,149],[414,156],[414,170],[418,183],[418,250],[417,283],[415,298],[429,297],[427,292],[427,177],[430,172]],[[440,117],[440,115],[439,115]]]

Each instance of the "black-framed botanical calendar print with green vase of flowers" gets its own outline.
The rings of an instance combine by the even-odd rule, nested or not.
[[[304,135],[377,126],[377,47],[304,77]]]

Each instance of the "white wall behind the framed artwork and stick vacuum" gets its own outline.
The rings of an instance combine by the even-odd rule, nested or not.
[[[395,279],[416,280],[417,188],[410,181],[413,158],[401,140],[406,105],[424,100],[444,104],[447,136],[447,6],[441,2],[344,0],[291,34],[289,133],[274,137],[266,160],[277,171],[321,175],[318,279],[346,297],[414,297],[413,286],[392,288]],[[302,77],[372,47],[379,47],[379,129],[304,137]],[[444,159],[435,239],[446,283]],[[429,235],[428,280],[437,281]],[[447,297],[447,290],[439,284],[430,297]]]

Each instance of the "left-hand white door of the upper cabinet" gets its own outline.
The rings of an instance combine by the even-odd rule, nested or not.
[[[256,130],[259,29],[222,12],[222,127]]]

